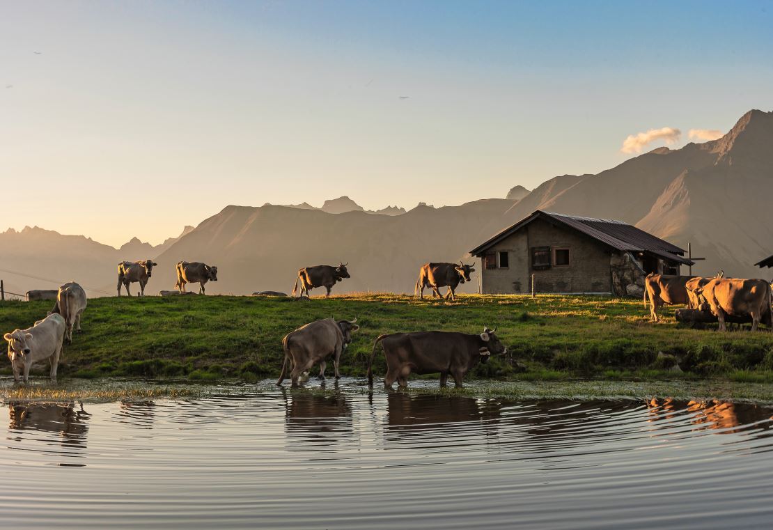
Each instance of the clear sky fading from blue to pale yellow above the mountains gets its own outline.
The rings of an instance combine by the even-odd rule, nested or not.
[[[0,229],[504,197],[773,110],[771,28],[773,2],[0,0]]]

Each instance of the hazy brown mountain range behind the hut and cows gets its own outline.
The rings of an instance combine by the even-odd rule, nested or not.
[[[0,233],[0,277],[12,292],[74,279],[90,287],[90,296],[113,294],[117,262],[150,257],[159,266],[149,292],[172,288],[174,264],[190,260],[218,267],[219,281],[207,286],[208,294],[248,294],[288,292],[300,267],[343,261],[352,278],[334,293],[412,292],[421,263],[472,263],[468,250],[536,209],[620,219],[683,248],[690,242],[693,256],[707,258],[695,273],[724,269],[727,276],[760,277],[765,273],[753,263],[773,253],[771,148],[773,113],[750,110],[715,141],[657,148],[598,174],[551,178],[532,191],[516,185],[506,199],[377,212],[347,196],[321,208],[305,202],[226,206],[161,245],[134,238],[120,249],[38,227],[9,229]],[[461,292],[476,287],[474,281]]]

